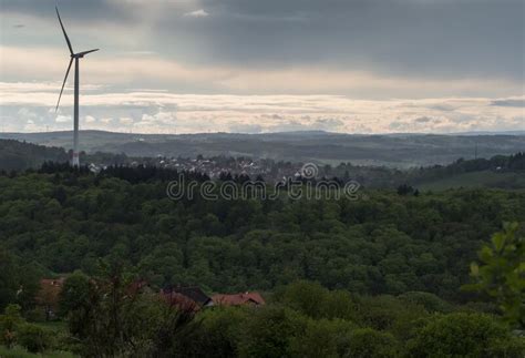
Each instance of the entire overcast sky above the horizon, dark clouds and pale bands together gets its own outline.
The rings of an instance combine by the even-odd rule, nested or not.
[[[0,0],[2,131],[72,127],[55,0]],[[525,0],[59,0],[81,129],[525,130]]]

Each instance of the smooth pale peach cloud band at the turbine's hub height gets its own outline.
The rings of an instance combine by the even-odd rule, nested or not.
[[[3,81],[61,79],[69,61],[65,49],[1,47],[0,51],[3,54]],[[81,72],[83,85],[163,88],[186,93],[323,93],[361,99],[389,99],[486,96],[487,92],[493,96],[509,96],[523,92],[523,83],[501,78],[429,79],[306,65],[267,70],[245,69],[188,64],[150,52],[119,55],[96,52],[81,60]]]

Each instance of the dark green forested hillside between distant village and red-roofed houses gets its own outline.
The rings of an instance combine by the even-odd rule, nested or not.
[[[0,177],[2,246],[53,273],[120,258],[164,285],[271,289],[298,278],[361,294],[461,299],[483,241],[523,221],[525,193],[451,191],[358,201],[172,201],[166,182],[91,174]]]

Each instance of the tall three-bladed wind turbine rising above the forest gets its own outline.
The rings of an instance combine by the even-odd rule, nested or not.
[[[59,102],[56,102],[55,112],[59,110],[60,98],[62,96],[62,92],[64,91],[65,81],[68,81],[68,74],[71,70],[71,64],[74,60],[74,134],[73,134],[73,158],[71,164],[73,166],[79,167],[79,60],[82,59],[84,55],[91,52],[99,51],[99,49],[82,51],[79,53],[73,52],[73,48],[71,47],[70,38],[68,38],[68,33],[65,33],[64,24],[62,23],[62,19],[60,19],[59,8],[55,7],[56,16],[59,17],[60,27],[62,28],[62,32],[64,33],[65,42],[68,43],[68,48],[70,49],[71,60],[70,64],[68,65],[68,70],[65,71],[64,82],[62,83],[62,90],[60,90]]]

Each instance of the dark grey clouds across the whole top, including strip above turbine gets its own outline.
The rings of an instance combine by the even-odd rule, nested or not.
[[[54,21],[55,0],[3,0]],[[69,0],[68,21],[134,27],[148,48],[193,63],[322,65],[388,75],[523,81],[523,0]],[[144,9],[163,9],[154,17]],[[203,10],[206,17],[185,17]]]

